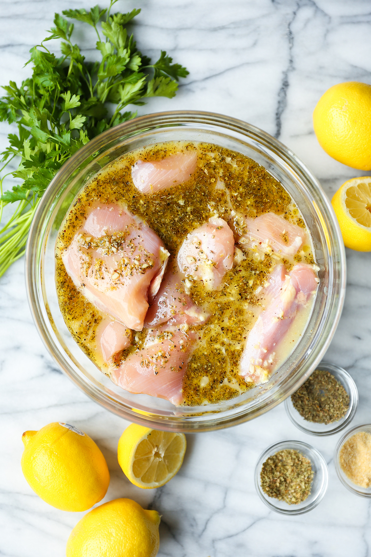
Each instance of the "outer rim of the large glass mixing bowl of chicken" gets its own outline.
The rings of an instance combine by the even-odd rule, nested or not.
[[[242,409],[239,408],[239,411],[232,413],[232,415],[228,414],[229,411],[224,412],[224,414],[226,414],[225,416],[221,416],[222,413],[213,412],[211,414],[211,417],[209,416],[207,419],[192,421],[190,418],[186,418],[185,420],[187,422],[183,421],[182,423],[179,421],[179,419],[176,419],[176,417],[171,417],[169,419],[150,413],[147,413],[146,416],[143,416],[134,412],[132,409],[130,411],[129,408],[123,407],[122,404],[119,404],[115,400],[108,397],[106,394],[98,392],[97,389],[95,389],[95,392],[93,392],[91,385],[88,385],[86,382],[81,381],[81,378],[77,377],[77,375],[76,377],[73,377],[73,371],[71,373],[72,368],[67,370],[68,363],[65,358],[65,354],[62,354],[61,351],[54,349],[51,343],[51,335],[47,330],[46,321],[43,321],[41,315],[41,305],[39,304],[39,300],[37,297],[37,280],[39,269],[37,267],[36,250],[33,250],[33,241],[36,243],[37,247],[40,247],[40,244],[38,242],[38,234],[39,229],[42,229],[43,211],[46,211],[48,203],[51,204],[53,202],[53,199],[56,196],[56,192],[58,192],[58,186],[62,186],[63,183],[65,183],[68,175],[70,175],[72,172],[71,168],[73,168],[74,165],[75,168],[78,168],[79,163],[84,162],[89,156],[97,152],[99,148],[103,148],[105,145],[107,145],[109,141],[112,142],[113,140],[118,138],[123,139],[128,136],[131,137],[135,135],[135,132],[137,130],[141,130],[141,133],[144,133],[144,131],[147,131],[149,129],[150,125],[152,126],[151,129],[156,129],[166,128],[166,126],[171,125],[181,126],[185,125],[185,123],[189,125],[197,125],[199,129],[203,129],[202,126],[206,126],[207,124],[219,126],[219,128],[222,129],[224,133],[229,132],[229,137],[231,138],[233,138],[233,135],[231,135],[231,131],[233,130],[235,131],[235,133],[242,134],[245,136],[245,138],[253,138],[257,140],[260,145],[265,146],[265,148],[267,149],[271,149],[273,153],[278,154],[278,157],[281,161],[289,161],[290,168],[293,168],[295,172],[298,172],[300,176],[303,176],[305,178],[306,183],[308,182],[307,185],[310,185],[310,191],[313,196],[316,195],[320,199],[320,214],[325,214],[325,218],[327,219],[325,221],[325,224],[327,225],[330,232],[333,234],[334,238],[334,245],[332,245],[332,262],[330,263],[330,268],[332,268],[334,273],[337,273],[337,282],[334,286],[334,290],[336,290],[336,296],[333,295],[328,314],[324,316],[323,320],[321,321],[321,331],[325,331],[326,334],[323,334],[322,338],[316,341],[313,349],[310,351],[310,353],[308,353],[308,357],[305,360],[307,362],[307,369],[306,371],[304,370],[304,372],[300,375],[300,378],[296,378],[296,382],[294,383],[293,379],[291,378],[291,382],[290,380],[288,380],[289,385],[284,385],[285,388],[283,388],[283,386],[281,385],[279,395],[275,398],[271,397],[269,401],[266,401],[264,407],[263,405],[260,405],[257,409],[254,409],[253,416],[249,415],[249,412],[246,409],[246,405],[244,405]],[[314,193],[312,192],[312,190]],[[328,247],[327,249],[329,250]],[[337,257],[334,257],[334,253]],[[26,247],[26,285],[29,305],[31,307],[33,319],[39,330],[39,334],[41,335],[44,344],[46,345],[48,351],[51,353],[52,357],[57,362],[58,366],[62,368],[63,372],[75,384],[77,384],[78,387],[82,389],[83,392],[85,392],[85,394],[87,394],[90,398],[95,400],[95,402],[98,402],[106,409],[109,409],[111,412],[146,426],[154,427],[155,424],[155,426],[159,427],[160,429],[165,429],[167,431],[194,432],[221,429],[257,417],[260,414],[273,408],[275,405],[283,402],[286,397],[288,397],[292,392],[298,389],[300,384],[303,383],[307,377],[309,377],[310,372],[308,371],[308,360],[311,361],[311,368],[314,369],[315,365],[318,364],[321,357],[323,356],[325,350],[327,350],[342,312],[345,296],[345,280],[345,250],[342,236],[340,234],[339,225],[334,216],[329,199],[325,195],[320,183],[315,178],[313,173],[311,173],[309,168],[307,168],[306,165],[301,162],[301,160],[296,157],[296,155],[289,148],[281,144],[280,141],[276,140],[275,138],[273,138],[273,136],[269,135],[265,131],[256,128],[256,126],[245,123],[244,121],[235,118],[230,118],[229,116],[202,111],[180,110],[140,116],[118,126],[115,126],[115,128],[106,130],[102,134],[96,136],[96,138],[93,138],[91,141],[89,141],[89,143],[84,145],[70,159],[68,159],[68,161],[62,166],[60,170],[58,170],[58,173],[51,180],[50,185],[46,189],[46,192],[44,192],[41,198],[41,202],[37,207],[36,214],[32,221],[32,226],[28,236]],[[332,319],[329,319],[329,314],[332,315]],[[301,367],[305,367],[305,361],[301,364]],[[295,372],[295,375],[297,374],[298,370],[296,370]]]

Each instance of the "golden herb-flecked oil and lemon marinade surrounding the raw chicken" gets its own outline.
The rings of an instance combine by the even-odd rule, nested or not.
[[[132,167],[137,160],[158,161],[176,153],[197,153],[197,165],[190,178],[159,192],[141,193],[133,184]],[[151,145],[123,155],[105,167],[83,187],[62,223],[56,243],[56,285],[60,309],[73,338],[88,357],[110,375],[112,369],[102,359],[96,330],[107,315],[97,309],[73,284],[62,261],[63,250],[70,245],[91,207],[115,204],[127,208],[148,224],[170,252],[168,267],[187,234],[201,227],[211,217],[230,223],[236,236],[244,233],[241,215],[249,218],[274,213],[296,224],[303,231],[304,244],[290,255],[281,255],[262,242],[234,252],[233,268],[227,270],[217,289],[207,289],[202,281],[185,278],[187,295],[208,318],[191,324],[194,346],[187,362],[182,404],[216,403],[254,387],[253,380],[240,375],[240,362],[246,339],[263,309],[261,293],[278,265],[290,270],[296,263],[314,266],[309,232],[298,208],[284,187],[254,160],[214,144],[174,141]],[[284,231],[281,240],[288,242]],[[264,243],[264,242],[263,242]],[[259,245],[260,244],[260,245]],[[284,361],[305,329],[311,305],[295,318],[285,339],[279,344],[278,364]],[[141,350],[148,330],[136,331],[132,344],[116,356],[119,367],[128,356]],[[112,363],[111,363],[112,365]]]

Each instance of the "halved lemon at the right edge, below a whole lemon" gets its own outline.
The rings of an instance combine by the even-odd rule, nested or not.
[[[371,251],[371,176],[345,182],[335,193],[332,204],[345,246]]]

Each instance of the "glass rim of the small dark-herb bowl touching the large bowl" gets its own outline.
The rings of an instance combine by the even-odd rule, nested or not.
[[[349,408],[347,410],[347,414],[345,414],[344,421],[340,423],[338,426],[335,425],[332,429],[328,429],[327,431],[314,431],[314,429],[303,427],[299,422],[296,421],[295,414],[291,412],[291,405],[289,402],[290,397],[287,397],[285,400],[285,410],[291,422],[294,424],[294,426],[300,429],[300,431],[302,431],[303,433],[308,433],[308,435],[314,435],[316,437],[327,437],[329,435],[334,435],[335,433],[339,433],[340,431],[343,431],[343,429],[348,427],[350,422],[352,422],[355,413],[357,412],[359,394],[358,394],[357,385],[355,384],[352,375],[350,375],[350,373],[347,372],[346,369],[341,368],[339,365],[332,364],[328,361],[320,361],[320,363],[318,364],[318,368],[320,367],[323,367],[325,371],[328,371],[330,373],[337,372],[340,375],[342,375],[342,380],[344,380],[344,383],[347,383],[349,387],[349,392],[350,392]],[[313,422],[308,422],[308,424],[311,423]],[[333,422],[333,423],[337,424],[337,422]]]

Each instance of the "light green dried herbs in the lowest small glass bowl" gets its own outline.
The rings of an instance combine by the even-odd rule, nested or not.
[[[264,493],[289,505],[305,501],[313,477],[309,458],[295,449],[283,449],[268,457],[260,472]]]

